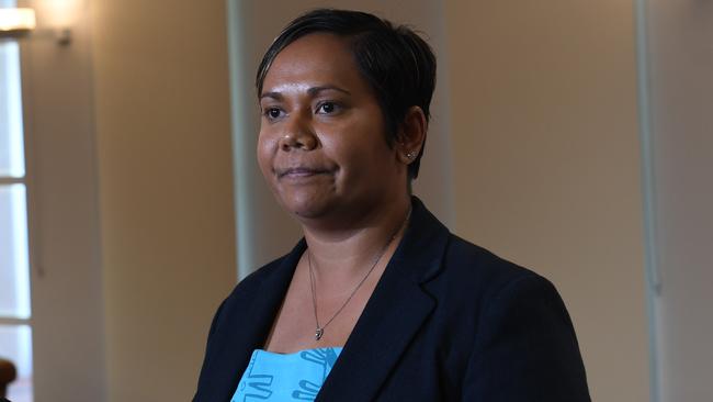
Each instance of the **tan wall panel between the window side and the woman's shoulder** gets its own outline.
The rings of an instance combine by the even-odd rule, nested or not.
[[[185,401],[236,281],[223,1],[93,1],[109,401]]]

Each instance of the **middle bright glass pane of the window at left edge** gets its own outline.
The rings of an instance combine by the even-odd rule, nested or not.
[[[0,316],[30,317],[24,185],[0,186]]]

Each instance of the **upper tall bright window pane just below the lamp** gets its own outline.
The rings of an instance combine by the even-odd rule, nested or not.
[[[0,177],[25,174],[21,90],[20,47],[0,41]]]

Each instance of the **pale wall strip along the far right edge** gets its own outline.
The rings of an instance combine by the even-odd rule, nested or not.
[[[653,299],[661,402],[713,400],[713,3],[647,0]]]

